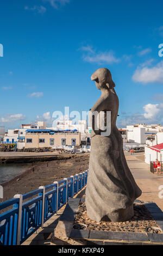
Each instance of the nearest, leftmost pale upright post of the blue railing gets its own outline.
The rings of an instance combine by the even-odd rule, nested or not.
[[[14,198],[19,198],[16,245],[20,245],[23,196],[22,194],[15,194]]]

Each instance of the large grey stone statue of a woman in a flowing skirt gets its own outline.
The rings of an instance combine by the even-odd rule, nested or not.
[[[110,135],[91,132],[89,176],[86,187],[87,215],[94,221],[127,221],[134,216],[134,200],[141,195],[123,152],[123,139],[116,127],[119,101],[108,69],[98,69],[91,76],[102,95],[91,112],[111,112]],[[96,118],[95,118],[96,119]],[[100,127],[99,127],[100,128]]]

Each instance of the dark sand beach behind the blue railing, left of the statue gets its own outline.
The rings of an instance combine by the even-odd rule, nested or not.
[[[0,199],[0,203],[13,198],[15,194],[25,194],[36,190],[39,186],[47,186],[54,181],[84,172],[88,167],[89,155],[73,156],[66,160],[34,163],[34,173],[32,169],[29,169],[15,179],[2,184],[4,198]]]

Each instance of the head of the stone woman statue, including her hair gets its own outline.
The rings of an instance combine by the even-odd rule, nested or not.
[[[115,83],[112,81],[111,73],[109,69],[101,68],[97,69],[91,76],[91,80],[95,81],[97,89],[102,88],[112,89],[115,87]]]

